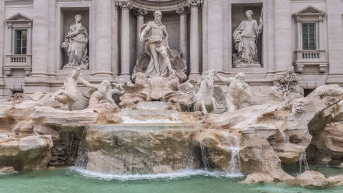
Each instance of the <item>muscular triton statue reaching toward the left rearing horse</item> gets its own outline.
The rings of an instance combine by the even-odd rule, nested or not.
[[[94,109],[97,106],[97,104],[99,104],[100,100],[106,98],[106,94],[110,89],[110,81],[103,80],[100,84],[91,84],[87,80],[84,80],[81,76],[79,79],[82,82],[82,84],[84,84],[86,87],[94,89],[91,93],[91,98],[89,98],[87,107],[88,109]]]

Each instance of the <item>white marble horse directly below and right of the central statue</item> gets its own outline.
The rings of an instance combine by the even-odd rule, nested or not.
[[[196,83],[196,95],[194,108],[202,111],[204,115],[216,109],[215,98],[213,98],[213,82],[215,71],[204,71]]]

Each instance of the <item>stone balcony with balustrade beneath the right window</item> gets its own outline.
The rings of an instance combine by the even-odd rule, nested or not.
[[[303,72],[304,67],[309,65],[318,65],[320,72],[327,71],[327,59],[325,50],[296,50],[294,67],[297,72]]]

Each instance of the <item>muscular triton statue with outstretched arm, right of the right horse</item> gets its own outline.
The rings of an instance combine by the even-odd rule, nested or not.
[[[228,84],[228,93],[226,93],[226,111],[232,112],[242,109],[242,103],[244,99],[251,98],[252,92],[249,85],[244,82],[245,74],[240,72],[235,77],[224,78],[215,71],[215,76],[220,82]]]

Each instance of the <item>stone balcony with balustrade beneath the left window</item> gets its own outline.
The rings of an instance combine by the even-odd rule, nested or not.
[[[28,76],[31,73],[32,63],[31,55],[19,55],[12,54],[6,55],[5,65],[3,66],[3,71],[7,76],[12,75],[13,69],[23,69],[25,74]]]

